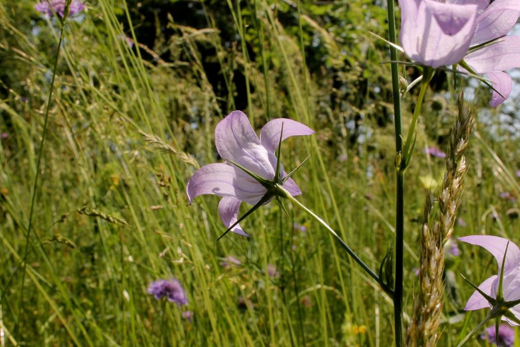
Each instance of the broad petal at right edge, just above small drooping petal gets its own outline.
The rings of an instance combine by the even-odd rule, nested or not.
[[[476,73],[520,67],[520,37],[499,38],[489,46],[474,50],[464,60]]]

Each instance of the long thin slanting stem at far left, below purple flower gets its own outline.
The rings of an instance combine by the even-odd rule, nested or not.
[[[63,35],[64,35],[64,29],[65,29],[65,20],[67,19],[67,16],[69,14],[70,9],[70,3],[71,0],[67,0],[65,4],[65,9],[63,13],[63,19],[61,20],[61,30],[60,30],[60,36],[58,40],[58,48],[56,50],[56,59],[54,60],[54,68],[53,68],[53,76],[50,80],[50,89],[49,89],[49,97],[47,98],[47,107],[45,108],[45,115],[44,115],[44,121],[43,121],[43,130],[42,130],[42,139],[40,140],[40,148],[38,149],[38,157],[36,160],[36,173],[34,175],[34,183],[33,183],[33,189],[32,189],[32,195],[31,195],[31,208],[29,211],[29,222],[27,225],[27,234],[25,235],[25,250],[23,255],[23,268],[22,268],[22,279],[21,279],[21,290],[20,290],[20,309],[18,311],[21,311],[22,302],[23,302],[23,287],[24,287],[24,281],[25,281],[25,271],[27,271],[27,256],[29,253],[29,243],[31,240],[31,230],[33,228],[32,221],[33,221],[33,215],[34,215],[34,205],[36,203],[36,189],[38,188],[38,179],[40,178],[40,166],[42,163],[42,153],[43,153],[43,146],[45,144],[45,135],[47,134],[47,124],[49,119],[49,110],[50,110],[50,102],[53,98],[53,91],[54,91],[54,81],[56,78],[56,71],[58,69],[58,59],[60,56],[60,49],[61,44],[63,42]],[[36,237],[38,235],[34,233]]]

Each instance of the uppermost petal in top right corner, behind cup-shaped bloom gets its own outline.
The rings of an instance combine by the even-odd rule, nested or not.
[[[493,4],[500,6],[500,0]],[[520,11],[511,9],[499,10],[497,5],[489,6],[477,19],[478,25],[475,35],[471,40],[471,45],[479,45],[497,37],[507,34],[516,24]]]

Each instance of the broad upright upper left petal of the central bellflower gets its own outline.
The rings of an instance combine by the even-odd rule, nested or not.
[[[218,122],[215,145],[220,157],[232,160],[263,178],[275,177],[276,157],[270,157],[267,149],[260,144],[243,112],[233,111]]]

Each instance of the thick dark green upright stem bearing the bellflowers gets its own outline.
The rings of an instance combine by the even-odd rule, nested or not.
[[[396,44],[394,0],[387,1],[388,11],[388,40]],[[401,121],[401,93],[399,88],[399,71],[397,70],[397,49],[390,46],[390,59],[392,60],[392,97],[394,99],[394,126],[395,126],[395,151],[396,156],[402,152],[402,121]],[[395,216],[395,285],[394,285],[394,325],[395,345],[402,346],[402,273],[403,273],[403,248],[404,248],[404,172],[396,168],[396,216]]]

